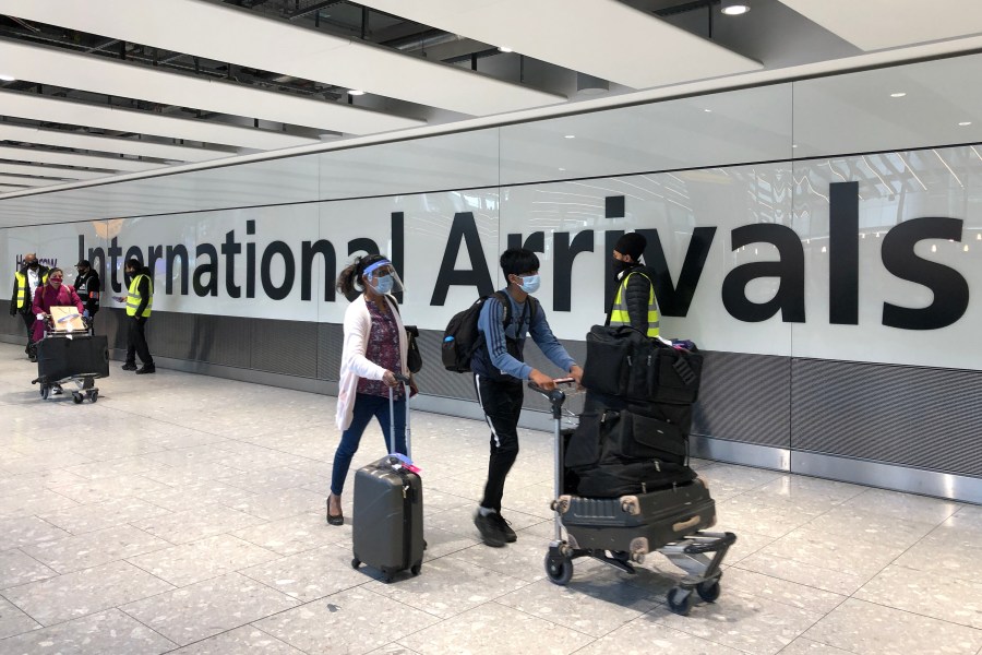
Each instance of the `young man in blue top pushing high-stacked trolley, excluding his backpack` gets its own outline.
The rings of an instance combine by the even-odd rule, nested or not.
[[[501,270],[507,279],[504,293],[508,308],[508,323],[504,323],[504,306],[489,298],[478,318],[478,331],[483,345],[474,354],[470,370],[478,403],[491,428],[491,455],[488,481],[474,523],[488,546],[501,547],[518,536],[501,515],[505,478],[518,456],[518,415],[525,397],[524,380],[531,380],[543,389],[555,383],[546,373],[525,364],[525,340],[532,341],[552,364],[567,372],[578,383],[583,369],[576,365],[559,343],[546,311],[530,297],[539,288],[539,258],[524,248],[510,248],[501,255]]]

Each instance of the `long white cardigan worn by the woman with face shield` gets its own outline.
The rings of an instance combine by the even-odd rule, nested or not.
[[[406,341],[406,329],[403,319],[395,308],[395,300],[386,296],[388,310],[395,317],[396,332],[399,335],[399,361],[403,371],[406,368],[406,355],[409,344]],[[372,331],[372,318],[368,306],[364,303],[364,294],[358,296],[345,311],[345,345],[342,350],[340,379],[337,383],[337,414],[335,422],[337,429],[344,431],[351,425],[355,413],[355,394],[358,391],[358,379],[381,380],[385,374],[384,368],[364,356],[369,334]]]

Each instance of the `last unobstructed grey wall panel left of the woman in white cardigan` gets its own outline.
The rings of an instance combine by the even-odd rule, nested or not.
[[[302,378],[318,376],[318,324],[252,321],[252,368]]]

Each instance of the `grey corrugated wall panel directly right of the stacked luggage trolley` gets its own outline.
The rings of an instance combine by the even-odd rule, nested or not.
[[[693,433],[789,448],[789,358],[710,350],[703,355],[703,383],[693,414]]]

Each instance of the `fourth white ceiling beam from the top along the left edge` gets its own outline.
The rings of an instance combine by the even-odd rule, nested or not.
[[[166,143],[136,141],[134,139],[113,139],[110,136],[101,136],[99,134],[86,134],[84,132],[40,130],[38,128],[12,126],[10,123],[0,123],[0,141],[20,141],[22,143],[57,145],[60,147],[73,147],[103,153],[119,153],[122,155],[154,157],[157,159],[171,159],[176,162],[207,162],[236,154],[201,147],[188,147],[185,145],[169,145]]]

